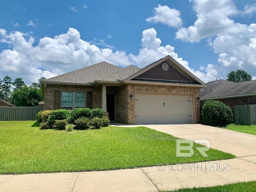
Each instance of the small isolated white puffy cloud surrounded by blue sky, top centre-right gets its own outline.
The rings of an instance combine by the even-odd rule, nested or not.
[[[170,27],[180,27],[182,25],[182,19],[180,18],[180,11],[171,9],[166,5],[158,4],[158,7],[154,8],[154,16],[146,19],[147,22],[162,23]]]

